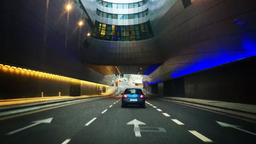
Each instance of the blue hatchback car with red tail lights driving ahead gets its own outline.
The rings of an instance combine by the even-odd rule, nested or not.
[[[145,108],[145,95],[141,89],[125,89],[122,95],[122,107],[127,105],[139,105],[142,108]]]

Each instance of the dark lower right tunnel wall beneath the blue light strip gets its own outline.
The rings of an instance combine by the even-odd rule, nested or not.
[[[158,85],[163,84],[164,96],[256,104],[255,63],[256,56]],[[150,85],[151,88],[154,87],[153,85]],[[161,95],[159,92],[158,94]]]

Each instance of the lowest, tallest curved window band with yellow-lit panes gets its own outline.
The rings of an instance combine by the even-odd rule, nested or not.
[[[108,41],[137,41],[154,37],[150,21],[137,25],[116,26],[95,22],[93,38]]]

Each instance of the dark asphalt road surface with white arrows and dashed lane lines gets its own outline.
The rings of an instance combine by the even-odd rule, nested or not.
[[[0,143],[255,144],[256,141],[256,124],[250,121],[151,97],[146,97],[145,109],[121,108],[120,99],[121,95],[101,98],[2,120]]]

